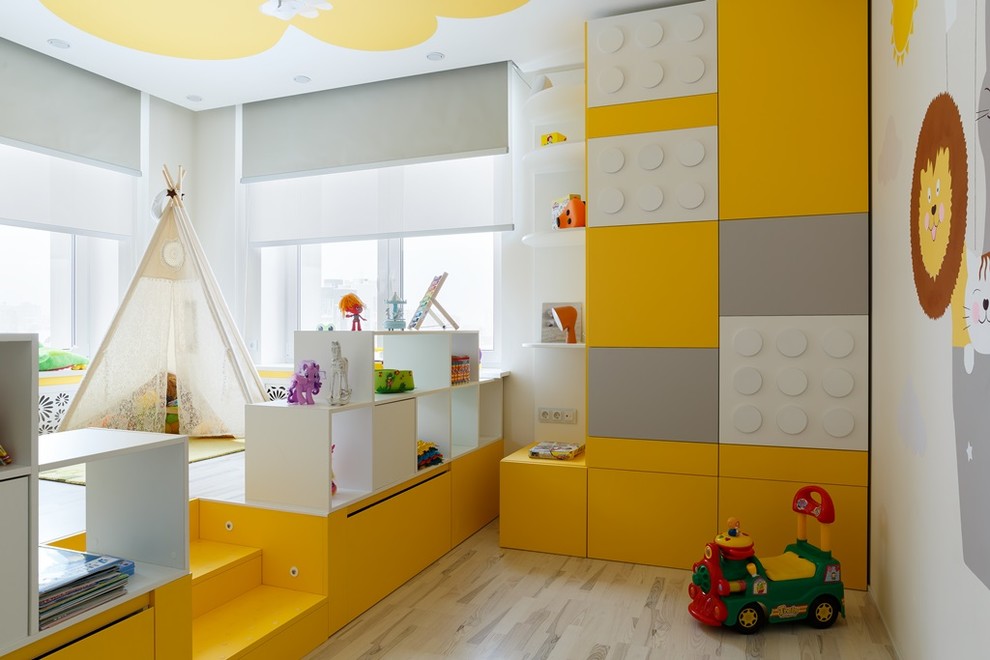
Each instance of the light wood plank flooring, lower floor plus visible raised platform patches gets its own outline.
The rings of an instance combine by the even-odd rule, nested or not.
[[[243,501],[243,456],[190,465],[190,496]],[[42,539],[84,528],[84,488],[41,482],[40,492]],[[744,636],[691,618],[689,580],[683,570],[501,548],[496,520],[307,659],[896,658],[865,592],[846,592],[846,618],[828,630],[777,624]]]

